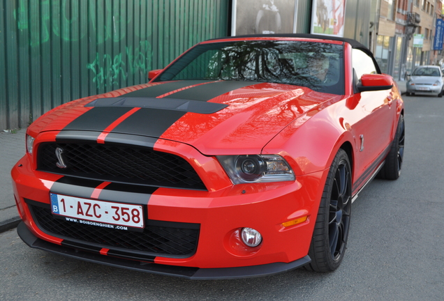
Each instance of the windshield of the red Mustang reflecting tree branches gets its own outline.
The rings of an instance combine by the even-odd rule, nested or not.
[[[342,95],[343,46],[275,40],[202,44],[156,82],[184,79],[274,82]]]

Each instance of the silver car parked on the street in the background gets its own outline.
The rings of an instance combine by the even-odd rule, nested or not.
[[[436,94],[443,97],[443,72],[437,65],[422,65],[413,70],[407,81],[406,95]]]

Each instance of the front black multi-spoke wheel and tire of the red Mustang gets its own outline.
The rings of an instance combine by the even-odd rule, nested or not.
[[[340,149],[328,172],[320,200],[307,270],[332,272],[341,264],[350,229],[351,200],[350,161],[347,153]]]

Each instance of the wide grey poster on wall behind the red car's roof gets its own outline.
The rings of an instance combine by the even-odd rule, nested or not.
[[[297,0],[233,0],[231,36],[295,33]]]

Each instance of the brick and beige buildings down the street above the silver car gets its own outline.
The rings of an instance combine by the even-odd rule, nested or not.
[[[437,64],[439,52],[434,49],[434,39],[442,1],[378,1],[378,33],[373,53],[381,70],[403,80],[418,65]]]

